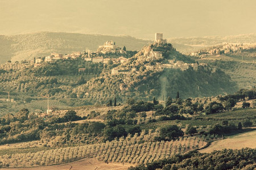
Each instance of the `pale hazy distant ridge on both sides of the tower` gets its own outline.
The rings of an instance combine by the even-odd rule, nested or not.
[[[22,35],[0,35],[0,63],[8,60],[21,61],[34,57],[48,56],[51,52],[61,54],[83,50],[96,50],[105,41],[113,40],[127,50],[139,50],[152,41],[136,39],[131,36],[86,35],[65,32],[36,32]],[[256,35],[173,37],[167,39],[174,48],[183,54],[222,42],[253,43]]]

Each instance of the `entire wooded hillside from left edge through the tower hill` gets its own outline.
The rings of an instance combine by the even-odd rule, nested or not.
[[[152,53],[161,53],[159,58]],[[79,68],[85,70],[79,72]],[[31,63],[1,65],[1,91],[16,94],[16,100],[31,101],[49,95],[69,106],[101,103],[114,97],[123,102],[135,99],[166,100],[177,91],[183,99],[235,92],[236,83],[219,69],[196,63],[171,44],[144,46],[125,63],[93,63],[79,57]],[[117,73],[113,74],[113,69]],[[13,96],[14,97],[14,96]]]

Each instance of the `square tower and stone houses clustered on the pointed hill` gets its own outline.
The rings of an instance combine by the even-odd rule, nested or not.
[[[168,58],[168,52],[173,53],[175,58]],[[172,68],[184,71],[189,69],[189,67],[193,67],[196,70],[199,65],[206,65],[205,63],[199,64],[182,61],[183,58],[177,59],[179,55],[180,53],[176,52],[172,44],[167,43],[166,39],[163,39],[163,33],[155,33],[154,43],[144,46],[134,57],[129,58],[129,61],[113,68],[112,74],[131,74],[134,71],[139,71],[138,68],[151,71],[163,71],[165,68]]]

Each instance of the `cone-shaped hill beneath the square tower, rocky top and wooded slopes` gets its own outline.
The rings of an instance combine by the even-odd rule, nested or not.
[[[106,103],[114,97],[118,101],[130,97],[166,100],[168,96],[174,98],[177,91],[187,98],[230,94],[236,90],[236,83],[224,71],[198,64],[162,40],[144,46],[127,62],[114,67],[111,75],[94,77],[72,92],[84,95],[91,103]]]

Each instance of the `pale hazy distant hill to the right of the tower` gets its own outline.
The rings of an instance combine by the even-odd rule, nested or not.
[[[206,36],[206,37],[172,37],[167,39],[174,47],[181,53],[189,54],[196,50],[227,43],[255,43],[256,34],[251,33],[247,35],[236,36]]]

